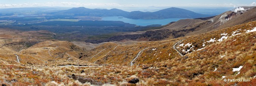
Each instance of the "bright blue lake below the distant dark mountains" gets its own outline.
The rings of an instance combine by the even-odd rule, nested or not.
[[[167,25],[170,22],[178,21],[185,18],[167,18],[167,19],[130,19],[130,18],[120,18],[120,17],[103,17],[104,21],[123,21],[125,23],[135,24],[139,26],[147,26],[147,25]]]

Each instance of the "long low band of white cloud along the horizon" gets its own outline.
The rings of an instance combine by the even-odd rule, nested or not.
[[[35,6],[61,6],[61,7],[147,7],[148,5],[136,5],[136,4],[119,4],[119,3],[79,3],[79,2],[46,2],[46,3],[23,3],[23,4],[1,4],[0,8],[19,8],[19,7],[35,7]],[[200,3],[191,3],[191,4],[154,4],[154,6],[256,6],[256,3],[251,4],[233,4],[233,3],[224,3],[224,4],[200,4]]]

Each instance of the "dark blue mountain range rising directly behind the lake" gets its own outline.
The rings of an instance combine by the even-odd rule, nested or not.
[[[120,9],[88,9],[84,7],[71,8],[68,10],[51,12],[52,15],[65,15],[65,16],[122,16],[131,19],[166,19],[166,18],[200,18],[210,17],[210,14],[198,14],[181,8],[167,8],[156,12],[141,12],[133,11],[126,12]]]

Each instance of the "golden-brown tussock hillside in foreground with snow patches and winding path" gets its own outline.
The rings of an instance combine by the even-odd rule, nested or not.
[[[23,54],[32,55],[32,53],[35,53],[34,57],[43,59],[40,55],[48,54],[47,51],[42,49],[46,47],[52,51],[50,54],[53,57],[50,58],[50,55],[46,55],[48,58],[43,60],[53,60],[49,63],[54,65],[47,65],[47,63],[30,65],[24,62],[24,60],[36,60],[36,58],[22,58],[23,61],[20,60],[20,64],[18,64],[15,63],[15,55],[12,57],[14,60],[10,57],[6,59],[1,57],[0,83],[15,86],[89,86],[91,84],[117,86],[255,86],[255,31],[256,21],[252,21],[218,31],[171,40],[133,44],[104,43],[82,54],[73,54],[72,51],[79,52],[83,50],[68,41],[43,41],[17,55],[22,57]],[[174,46],[176,43],[177,45]],[[173,46],[179,52],[184,52],[184,56],[180,56],[173,49]],[[41,51],[37,51],[37,49]],[[67,61],[68,58],[63,56],[64,60],[60,60],[62,56],[57,57],[65,52],[81,62],[76,63],[77,65],[87,61],[92,62],[92,65],[95,61],[95,63],[108,65],[68,66],[76,64],[63,64],[61,62]],[[11,61],[7,60],[14,62],[12,64]],[[84,60],[84,62],[81,60]],[[7,62],[8,64],[6,64]],[[131,62],[133,66],[130,65]],[[223,81],[228,78],[239,78],[248,82]]]

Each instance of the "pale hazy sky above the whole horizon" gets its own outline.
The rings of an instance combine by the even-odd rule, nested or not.
[[[238,7],[256,6],[256,0],[0,0],[0,8],[37,6],[116,8],[116,7]]]

